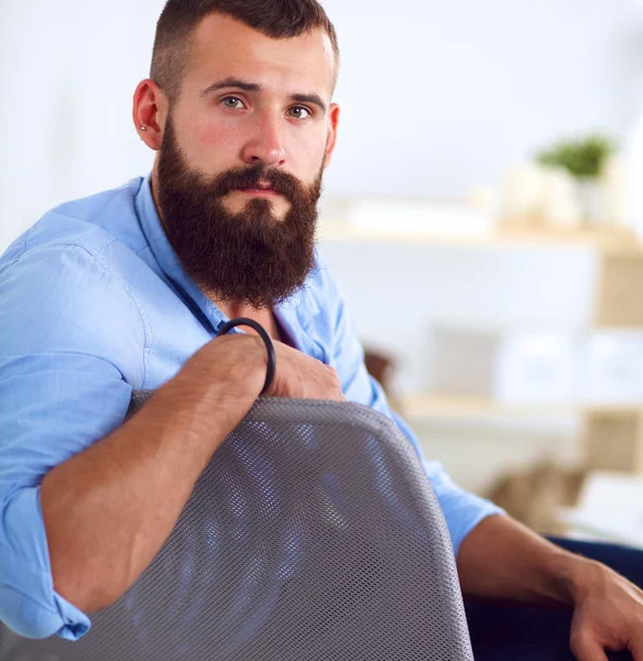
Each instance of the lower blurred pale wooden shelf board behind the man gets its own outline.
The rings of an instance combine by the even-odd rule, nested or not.
[[[415,394],[397,400],[402,415],[413,419],[554,418],[568,415],[632,416],[643,413],[636,405],[582,405],[570,403],[509,403],[483,397]]]

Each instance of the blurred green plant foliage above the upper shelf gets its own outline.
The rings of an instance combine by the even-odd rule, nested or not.
[[[562,140],[540,152],[536,160],[542,165],[564,167],[578,178],[597,178],[601,175],[608,156],[615,150],[610,138],[593,134],[582,140]]]

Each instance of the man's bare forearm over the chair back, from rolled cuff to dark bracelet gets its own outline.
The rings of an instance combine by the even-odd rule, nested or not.
[[[44,477],[41,506],[61,596],[96,611],[137,581],[264,378],[259,339],[219,338],[124,425]]]

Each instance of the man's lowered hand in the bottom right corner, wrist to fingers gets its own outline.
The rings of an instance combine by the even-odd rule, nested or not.
[[[570,647],[578,661],[607,661],[603,650],[630,650],[643,661],[643,592],[609,567],[578,559]]]

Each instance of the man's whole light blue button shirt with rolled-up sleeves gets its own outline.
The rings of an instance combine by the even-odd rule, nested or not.
[[[275,314],[299,350],[337,370],[348,400],[394,418],[419,454],[367,373],[326,268]],[[0,258],[0,620],[73,640],[90,621],[53,587],[43,477],[120,426],[132,389],[160,388],[227,318],[183,271],[150,177],[64,204],[20,237]],[[502,510],[424,465],[457,552]]]

